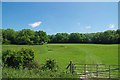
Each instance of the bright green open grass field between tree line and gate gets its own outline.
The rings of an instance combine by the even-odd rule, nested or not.
[[[2,49],[19,50],[23,47],[35,51],[38,63],[55,59],[62,70],[65,70],[70,60],[79,64],[118,64],[117,44],[3,45]]]

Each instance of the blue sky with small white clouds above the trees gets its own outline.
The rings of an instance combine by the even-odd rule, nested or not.
[[[3,2],[2,28],[91,33],[118,28],[117,2]]]

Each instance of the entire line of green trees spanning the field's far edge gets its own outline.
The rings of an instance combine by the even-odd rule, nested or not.
[[[96,33],[56,33],[47,35],[44,31],[22,29],[1,29],[2,44],[39,45],[44,43],[96,43],[119,44],[120,29]]]

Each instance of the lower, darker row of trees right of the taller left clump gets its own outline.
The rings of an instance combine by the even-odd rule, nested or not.
[[[107,30],[97,33],[57,33],[48,35],[49,43],[99,43],[115,44],[120,43],[120,30]]]

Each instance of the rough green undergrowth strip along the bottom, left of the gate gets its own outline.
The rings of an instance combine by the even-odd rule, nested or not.
[[[63,71],[50,71],[50,70],[40,70],[40,69],[13,69],[13,68],[3,68],[2,69],[2,78],[25,78],[28,80],[30,78],[48,78],[49,80],[53,80],[53,78],[72,78],[70,74],[66,74]]]

